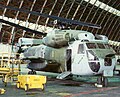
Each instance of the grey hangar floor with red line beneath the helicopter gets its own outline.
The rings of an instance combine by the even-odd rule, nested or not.
[[[53,75],[55,76],[55,75]],[[120,76],[109,78],[109,86],[96,88],[96,77],[74,77],[73,80],[56,80],[48,77],[45,91],[17,89],[15,83],[7,87],[0,80],[0,88],[6,90],[0,97],[120,97]]]

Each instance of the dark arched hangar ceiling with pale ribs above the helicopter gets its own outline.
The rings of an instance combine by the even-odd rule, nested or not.
[[[72,29],[87,30],[94,34],[103,34],[108,36],[112,41],[120,41],[120,1],[119,0],[0,0],[0,4],[4,6],[12,6],[24,10],[36,11],[49,15],[55,15],[72,20],[97,24],[101,29],[75,26]],[[40,29],[40,26],[53,27],[53,19],[36,16],[29,13],[10,10],[0,7],[0,18],[8,17],[26,22],[26,27],[29,23],[36,24],[35,30]],[[20,24],[20,22],[19,22]],[[45,27],[41,28],[45,32]],[[8,42],[12,32],[15,33],[15,40],[19,37],[35,37],[34,35],[25,32],[22,29],[11,26],[2,26],[2,42]]]

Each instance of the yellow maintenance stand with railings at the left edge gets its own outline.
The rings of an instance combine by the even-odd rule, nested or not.
[[[0,53],[0,76],[4,85],[14,81],[20,73],[21,60],[15,58],[16,53]]]

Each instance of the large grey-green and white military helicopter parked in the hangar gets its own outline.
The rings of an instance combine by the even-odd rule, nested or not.
[[[2,5],[0,5],[2,6]],[[70,24],[84,25],[100,28],[97,25],[64,19],[57,16],[25,11],[18,8],[3,6],[8,9],[41,15],[43,17],[64,21]],[[0,19],[6,23],[24,30],[40,33],[29,28]],[[54,29],[47,33],[43,39],[20,38],[18,41],[23,53],[23,60],[27,60],[29,74],[35,71],[45,70],[59,72],[58,79],[69,75],[101,75],[97,83],[107,86],[107,77],[113,76],[115,67],[115,52],[108,45],[108,38],[103,35],[93,35],[91,32],[71,29]],[[37,46],[30,46],[36,45]],[[24,46],[27,46],[24,49]]]

